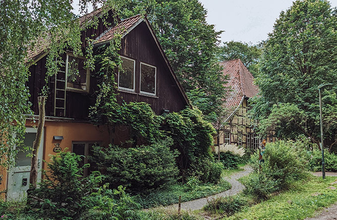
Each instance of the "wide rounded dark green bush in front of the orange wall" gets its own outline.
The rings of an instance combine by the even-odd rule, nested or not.
[[[99,170],[105,170],[105,180],[112,188],[123,185],[128,190],[141,191],[176,181],[177,153],[170,151],[170,145],[168,138],[150,146],[135,148],[94,146],[93,156],[89,158],[97,164]]]

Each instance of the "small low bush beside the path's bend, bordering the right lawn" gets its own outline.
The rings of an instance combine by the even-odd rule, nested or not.
[[[246,187],[243,192],[252,195],[257,202],[268,199],[271,193],[280,189],[280,180],[272,179],[264,173],[250,174],[249,176],[242,178],[241,181]]]

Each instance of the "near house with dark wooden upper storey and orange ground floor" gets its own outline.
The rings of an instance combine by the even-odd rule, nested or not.
[[[98,47],[109,44],[116,33],[122,36],[119,54],[124,71],[116,76],[118,102],[146,102],[158,115],[163,112],[178,112],[189,106],[187,96],[147,18],[137,15],[114,22],[113,11],[110,10],[107,14],[107,20],[114,24],[111,27],[103,24],[102,8],[80,17],[80,23],[93,16],[99,18],[98,28],[83,31],[81,38],[83,44],[85,37],[94,39],[94,47]],[[47,39],[29,52],[34,63],[29,68],[31,75],[27,86],[36,122],[39,114],[38,96],[46,83],[49,43]],[[44,161],[49,161],[50,154],[68,148],[86,156],[94,143],[107,145],[111,141],[106,127],[97,127],[89,122],[89,107],[96,102],[99,76],[95,71],[84,68],[84,59],[74,57],[72,51],[65,50],[61,61],[63,67],[48,80],[51,92],[47,97],[46,122],[38,154],[40,170],[47,168]],[[74,69],[78,70],[79,75],[69,74]],[[36,122],[28,119],[24,142],[25,145],[32,146],[36,135],[33,125]],[[7,199],[25,196],[29,187],[30,160],[25,153],[20,152],[16,166],[4,175],[0,187],[7,189]],[[38,178],[41,179],[41,172]]]

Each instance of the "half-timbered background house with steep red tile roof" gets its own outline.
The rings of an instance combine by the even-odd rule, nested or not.
[[[254,77],[240,59],[220,63],[223,73],[228,76],[228,91],[225,102],[225,126],[221,128],[220,144],[236,144],[248,150],[256,149],[263,138],[275,141],[273,134],[260,137],[254,131],[254,122],[247,112],[251,109],[248,100],[258,94]],[[217,138],[215,140],[216,144]]]

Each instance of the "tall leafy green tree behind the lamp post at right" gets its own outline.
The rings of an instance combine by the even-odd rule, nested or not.
[[[253,115],[260,132],[275,130],[284,138],[305,134],[320,142],[317,87],[323,92],[325,145],[337,139],[337,11],[327,0],[297,0],[281,12],[269,34],[257,78],[260,95]],[[332,147],[332,146],[330,146]]]

